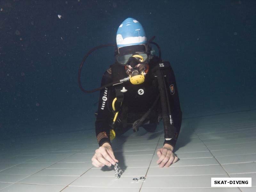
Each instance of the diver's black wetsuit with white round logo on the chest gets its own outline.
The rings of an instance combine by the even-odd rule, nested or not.
[[[134,85],[130,81],[127,81],[123,84],[117,84],[100,91],[98,115],[95,122],[96,136],[100,146],[105,142],[110,143],[109,129],[115,116],[112,109],[112,102],[116,98],[116,88],[122,89],[125,87],[127,90],[127,92],[124,92],[123,94],[124,98],[121,110],[119,110],[118,118],[115,122],[114,131],[118,136],[132,128],[134,121],[140,119],[148,109],[151,108],[152,104],[156,100],[157,95],[159,94],[158,83],[152,69],[156,65],[159,65],[160,62],[161,61],[158,57],[153,57],[150,60],[148,64],[149,70],[145,76],[145,81],[142,84]],[[163,69],[163,72],[168,89],[168,99],[170,101],[173,124],[176,128],[176,139],[165,141],[165,143],[169,143],[175,147],[178,134],[180,132],[182,112],[180,110],[179,95],[173,70],[169,67]],[[125,77],[127,77],[125,67],[115,63],[104,73],[101,80],[101,86]],[[118,104],[115,106],[118,106]],[[148,132],[154,132],[158,123],[158,115],[160,113],[161,103],[158,101],[153,110],[151,110],[148,118],[143,122],[144,124],[140,127],[143,127]]]

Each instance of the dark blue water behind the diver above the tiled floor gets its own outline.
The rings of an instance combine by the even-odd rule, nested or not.
[[[0,10],[0,138],[92,129],[99,92],[79,89],[78,68],[128,17],[171,62],[184,118],[256,109],[256,1],[1,0]],[[113,62],[113,47],[93,52],[84,88]]]

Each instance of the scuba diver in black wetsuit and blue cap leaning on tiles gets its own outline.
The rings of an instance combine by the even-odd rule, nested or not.
[[[156,163],[162,168],[178,160],[172,152],[182,117],[178,90],[170,63],[161,60],[160,47],[153,39],[147,39],[142,25],[133,18],[124,20],[117,30],[116,60],[101,80],[95,122],[100,147],[92,157],[95,167],[118,162],[111,147],[116,136],[129,129],[139,131],[139,127],[154,132],[161,120],[164,145],[157,150]],[[159,57],[153,55],[151,44],[158,47]]]

